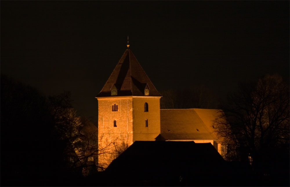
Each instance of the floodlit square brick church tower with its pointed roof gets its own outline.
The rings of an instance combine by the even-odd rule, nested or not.
[[[128,48],[98,99],[99,164],[104,168],[134,141],[160,134],[160,93]]]

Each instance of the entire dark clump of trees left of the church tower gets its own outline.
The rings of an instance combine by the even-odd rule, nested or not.
[[[1,75],[2,186],[71,185],[97,171],[97,128],[71,102]]]

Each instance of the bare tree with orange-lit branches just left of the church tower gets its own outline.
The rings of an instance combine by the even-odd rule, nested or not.
[[[117,140],[108,144],[98,142],[97,127],[84,117],[77,116],[71,106],[70,93],[49,97],[51,111],[55,118],[54,130],[59,141],[64,145],[64,160],[68,170],[74,173],[82,173],[83,176],[91,172],[104,170],[98,163],[98,157],[102,154],[113,154],[111,147]]]

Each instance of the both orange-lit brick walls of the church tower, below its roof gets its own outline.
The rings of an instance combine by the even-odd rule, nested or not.
[[[160,97],[121,96],[98,99],[99,163],[106,167],[115,148],[134,141],[154,141],[160,133]],[[148,111],[144,111],[144,104]],[[113,111],[113,106],[117,110]],[[147,120],[147,126],[146,121]],[[116,124],[114,124],[116,121]]]

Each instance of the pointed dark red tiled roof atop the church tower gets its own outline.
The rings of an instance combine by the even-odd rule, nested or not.
[[[118,91],[116,96],[144,96],[146,86],[149,96],[161,96],[130,49],[126,49],[97,97],[110,97],[113,85]]]

